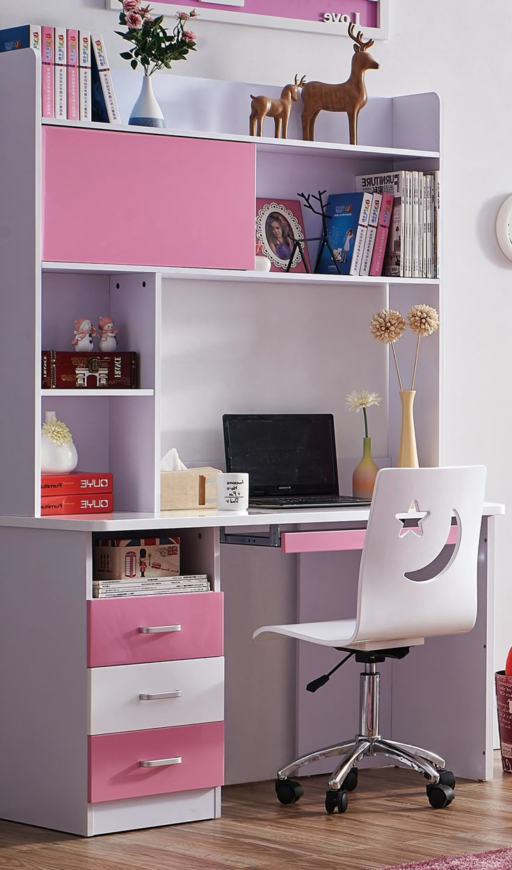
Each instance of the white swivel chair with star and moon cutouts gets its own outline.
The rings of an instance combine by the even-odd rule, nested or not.
[[[329,780],[328,813],[347,809],[347,792],[357,785],[356,762],[365,755],[386,755],[422,773],[429,781],[429,803],[436,809],[454,799],[455,777],[445,770],[439,755],[381,737],[376,665],[386,658],[402,659],[409,647],[421,645],[425,638],[469,632],[475,625],[485,475],[482,465],[382,469],[362,547],[356,618],[263,626],[254,633],[254,638],[286,635],[332,646],[349,653],[346,658],[354,655],[364,663],[360,733],[354,740],[316,750],[279,770],[276,794],[281,803],[294,803],[303,794],[300,783],[289,779],[290,773],[336,755],[343,757]],[[455,534],[452,525],[456,525],[453,551],[444,549],[450,532],[452,538]],[[334,670],[309,684],[309,689],[323,685]]]

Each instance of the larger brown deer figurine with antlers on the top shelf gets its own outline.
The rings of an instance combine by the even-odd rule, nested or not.
[[[303,85],[303,139],[312,142],[315,137],[316,116],[324,111],[346,111],[349,116],[350,144],[357,144],[357,117],[366,105],[368,95],[364,84],[366,70],[378,70],[379,64],[368,54],[374,40],[362,42],[362,31],[354,36],[354,23],[349,23],[349,37],[354,40],[350,76],[342,84],[308,82]]]

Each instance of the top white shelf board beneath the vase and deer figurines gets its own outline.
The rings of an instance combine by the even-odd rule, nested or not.
[[[411,160],[429,159],[438,160],[439,151],[422,151],[409,148],[390,148],[379,145],[350,145],[348,143],[333,142],[304,142],[302,139],[274,139],[266,136],[245,136],[243,133],[209,133],[203,131],[183,131],[156,129],[154,127],[136,127],[128,124],[98,124],[85,123],[55,118],[43,118],[44,126],[80,127],[86,130],[108,130],[114,132],[138,133],[149,136],[177,136],[192,139],[216,139],[220,142],[248,142],[256,144],[257,151],[267,151],[282,154],[302,154],[309,157],[336,157],[338,160],[343,154],[348,158],[359,157],[360,159],[375,160],[376,157],[402,160],[404,157]]]

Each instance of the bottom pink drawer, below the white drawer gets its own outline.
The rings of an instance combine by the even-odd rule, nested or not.
[[[90,803],[223,785],[223,722],[96,734],[88,740]]]

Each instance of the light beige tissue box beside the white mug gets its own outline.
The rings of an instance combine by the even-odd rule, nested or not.
[[[188,468],[183,472],[160,472],[161,510],[215,510],[216,476],[219,472],[219,468],[211,468],[209,465]]]

